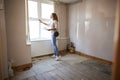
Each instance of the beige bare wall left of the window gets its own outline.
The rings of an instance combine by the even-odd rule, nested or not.
[[[13,66],[31,63],[31,47],[26,45],[25,0],[5,0],[8,58]]]

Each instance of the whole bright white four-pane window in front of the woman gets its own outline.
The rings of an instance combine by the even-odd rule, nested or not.
[[[28,0],[28,11],[30,40],[50,39],[51,32],[47,31],[45,29],[47,26],[39,23],[38,19],[48,23],[51,13],[54,12],[53,3]]]

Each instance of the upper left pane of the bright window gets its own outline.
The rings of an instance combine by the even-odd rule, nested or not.
[[[28,11],[29,11],[29,17],[38,18],[37,2],[28,1]]]

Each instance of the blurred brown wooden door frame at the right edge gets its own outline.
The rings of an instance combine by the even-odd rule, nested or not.
[[[120,80],[120,0],[117,0],[116,21],[114,34],[114,60],[112,66],[112,80]]]

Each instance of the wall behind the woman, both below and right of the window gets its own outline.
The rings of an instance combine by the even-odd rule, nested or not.
[[[55,12],[57,13],[59,19],[58,31],[60,35],[57,39],[58,49],[65,50],[68,43],[67,6],[63,3],[55,3]],[[31,51],[32,57],[54,52],[50,40],[33,41],[31,44]]]

